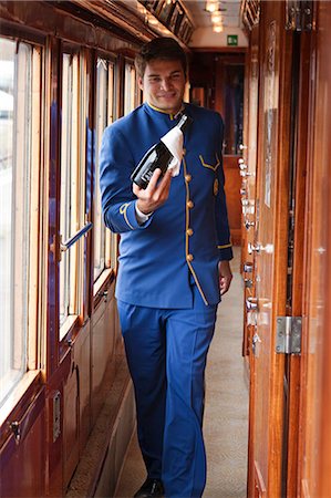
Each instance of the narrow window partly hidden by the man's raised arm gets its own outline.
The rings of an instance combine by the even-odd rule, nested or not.
[[[106,126],[114,121],[115,64],[113,61],[97,59],[96,65],[96,154],[95,154],[95,196],[94,196],[94,281],[101,273],[115,264],[116,236],[105,228],[101,207],[99,152]]]

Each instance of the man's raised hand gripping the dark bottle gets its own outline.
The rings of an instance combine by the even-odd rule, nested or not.
[[[167,170],[159,183],[161,169],[156,168],[146,189],[133,184],[133,193],[137,196],[137,208],[144,215],[148,215],[164,205],[169,196],[172,172]]]

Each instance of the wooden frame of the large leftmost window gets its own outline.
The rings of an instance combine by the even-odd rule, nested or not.
[[[10,390],[0,407],[0,446],[11,435],[8,421],[20,419],[27,411],[31,398],[43,387],[43,343],[45,333],[42,332],[42,313],[44,310],[44,294],[42,292],[43,249],[48,246],[42,237],[44,229],[43,210],[41,209],[41,193],[45,189],[43,172],[44,157],[44,122],[45,122],[45,59],[46,37],[30,33],[23,28],[12,27],[8,22],[0,24],[0,37],[12,42],[27,43],[32,48],[31,53],[31,134],[30,134],[30,185],[29,190],[29,258],[27,270],[29,298],[27,300],[27,370]],[[38,136],[38,139],[33,139]],[[33,248],[33,250],[31,250]]]

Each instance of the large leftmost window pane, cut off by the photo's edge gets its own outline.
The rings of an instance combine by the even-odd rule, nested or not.
[[[1,39],[0,405],[37,363],[40,63],[40,49]]]

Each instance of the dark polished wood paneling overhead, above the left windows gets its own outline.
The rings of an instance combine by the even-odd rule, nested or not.
[[[1,18],[23,23],[25,32],[45,33],[106,51],[134,53],[139,43],[152,39],[148,24],[139,15],[130,13],[124,3],[118,7],[115,2],[85,2],[86,9],[72,1],[54,3],[32,0],[27,8],[24,2],[2,1]],[[11,28],[13,37],[17,28]]]

